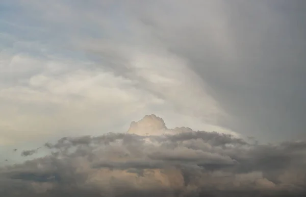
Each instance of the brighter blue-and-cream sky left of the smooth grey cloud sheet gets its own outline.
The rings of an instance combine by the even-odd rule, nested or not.
[[[122,3],[5,3],[11,12],[4,29],[14,39],[0,59],[2,144],[24,141],[23,132],[41,140],[121,130],[149,113],[172,125],[180,119],[196,129],[233,132],[220,124],[227,114],[189,61],[144,26],[134,6],[145,5]]]

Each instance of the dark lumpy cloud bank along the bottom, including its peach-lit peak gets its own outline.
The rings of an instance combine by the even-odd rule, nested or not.
[[[50,154],[0,169],[3,196],[296,196],[306,186],[306,142],[168,129],[155,115],[126,133],[64,137],[43,149]]]

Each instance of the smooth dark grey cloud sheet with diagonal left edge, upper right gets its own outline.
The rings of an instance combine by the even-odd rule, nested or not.
[[[304,3],[159,3],[144,6],[143,23],[230,114],[224,125],[267,142],[304,139]]]

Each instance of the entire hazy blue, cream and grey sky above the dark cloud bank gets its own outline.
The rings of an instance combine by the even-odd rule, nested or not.
[[[170,127],[305,139],[304,1],[0,4],[0,143]]]

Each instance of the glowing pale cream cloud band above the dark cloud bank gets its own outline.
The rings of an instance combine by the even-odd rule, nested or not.
[[[86,68],[92,63],[43,62],[20,56],[7,61],[10,65],[7,68],[3,64],[4,71],[16,68],[15,72],[23,72],[18,69],[21,62],[33,72],[17,84],[4,84],[0,91],[7,109],[2,111],[3,130],[11,131],[4,133],[7,143],[63,130],[110,129],[118,124],[115,120],[120,123],[121,118],[150,111],[163,113],[178,108],[183,114],[206,116],[211,124],[216,124],[216,116],[222,113],[200,86],[188,81],[191,78],[186,67],[159,56],[142,55],[130,63],[138,80],[115,76],[102,68]],[[74,70],[74,66],[79,68]],[[18,135],[24,131],[28,131],[27,136]]]

